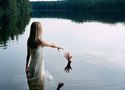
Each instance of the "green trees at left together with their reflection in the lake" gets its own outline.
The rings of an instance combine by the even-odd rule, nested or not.
[[[28,0],[0,0],[0,47],[8,40],[18,39],[28,24],[31,4]]]

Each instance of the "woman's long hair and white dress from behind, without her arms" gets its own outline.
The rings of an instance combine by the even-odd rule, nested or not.
[[[39,79],[44,74],[43,46],[40,44],[41,25],[34,22],[31,25],[30,36],[27,41],[27,47],[31,55],[29,63],[29,79]]]

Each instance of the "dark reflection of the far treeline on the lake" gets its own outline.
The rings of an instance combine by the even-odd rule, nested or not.
[[[83,23],[83,22],[92,22],[98,21],[103,23],[118,23],[125,22],[124,12],[66,12],[66,11],[34,11],[32,17],[35,18],[62,18],[69,19],[74,22]]]

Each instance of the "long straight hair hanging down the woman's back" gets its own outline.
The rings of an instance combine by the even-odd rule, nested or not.
[[[30,28],[30,35],[28,38],[28,46],[30,48],[37,48],[41,43],[42,26],[39,22],[33,22]]]

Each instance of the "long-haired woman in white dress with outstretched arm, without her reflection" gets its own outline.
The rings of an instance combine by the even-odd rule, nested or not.
[[[42,39],[42,26],[39,22],[33,22],[27,41],[26,73],[28,78],[39,79],[44,76],[43,47],[63,49],[55,44],[48,43]],[[30,60],[30,61],[29,61]]]

